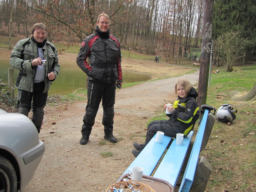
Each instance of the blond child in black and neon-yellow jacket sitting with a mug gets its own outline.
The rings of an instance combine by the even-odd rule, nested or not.
[[[179,79],[175,84],[175,93],[178,99],[174,101],[173,106],[166,106],[167,110],[172,114],[168,114],[168,120],[156,120],[148,124],[148,132],[144,144],[133,143],[136,150],[132,150],[132,154],[137,157],[141,150],[154,137],[157,131],[164,132],[166,136],[176,138],[177,133],[188,135],[193,130],[196,120],[199,117],[199,107],[196,102],[198,93],[186,78]]]

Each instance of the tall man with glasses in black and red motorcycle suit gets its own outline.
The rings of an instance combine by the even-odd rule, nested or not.
[[[122,86],[121,47],[119,40],[110,35],[110,20],[102,13],[97,19],[96,33],[87,36],[76,58],[77,65],[88,76],[87,105],[82,125],[80,144],[89,141],[100,102],[102,101],[104,139],[116,143],[113,135],[116,86]],[[89,57],[90,65],[86,59]]]

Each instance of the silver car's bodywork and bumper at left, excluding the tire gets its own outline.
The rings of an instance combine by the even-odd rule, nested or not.
[[[15,167],[20,191],[33,178],[44,149],[35,125],[27,116],[0,109],[0,154]]]

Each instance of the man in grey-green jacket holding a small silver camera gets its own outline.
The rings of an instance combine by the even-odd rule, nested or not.
[[[15,45],[10,59],[10,65],[20,70],[15,84],[18,88],[18,113],[28,116],[32,107],[32,122],[38,133],[43,124],[48,90],[60,72],[57,49],[46,40],[46,33],[45,25],[36,23],[32,36]]]

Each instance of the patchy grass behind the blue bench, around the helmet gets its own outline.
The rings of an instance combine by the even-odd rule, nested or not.
[[[209,191],[251,191],[255,185],[255,141],[256,141],[256,101],[238,101],[231,99],[236,93],[247,94],[255,84],[255,65],[236,67],[234,72],[219,69],[218,74],[211,74],[206,104],[219,108],[229,103],[237,108],[236,119],[230,126],[215,122],[206,148],[200,154],[206,156],[213,167]],[[224,143],[220,143],[224,140]],[[244,177],[244,179],[243,179]],[[255,188],[254,188],[255,189]],[[252,190],[255,191],[255,190]]]

